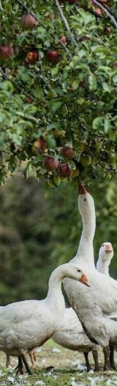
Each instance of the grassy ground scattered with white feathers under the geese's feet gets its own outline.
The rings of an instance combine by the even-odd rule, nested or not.
[[[58,351],[59,350],[59,351]],[[100,364],[103,365],[102,351],[99,350]],[[116,355],[117,357],[117,355]],[[117,359],[117,358],[116,358]],[[30,360],[29,360],[30,361]],[[93,368],[92,354],[90,362]],[[116,360],[117,362],[117,360]],[[83,370],[83,354],[64,349],[49,340],[41,349],[37,349],[37,362],[32,376],[16,377],[14,368],[17,359],[11,358],[11,366],[5,369],[5,354],[0,353],[0,385],[25,386],[114,386],[117,385],[117,373],[86,373]],[[48,369],[53,366],[54,369]],[[16,381],[17,380],[17,381]],[[4,381],[4,382],[3,382]],[[2,383],[1,383],[2,382]],[[17,382],[17,383],[16,383]]]

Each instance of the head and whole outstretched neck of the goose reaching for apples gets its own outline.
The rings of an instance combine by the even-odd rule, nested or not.
[[[93,239],[96,229],[96,215],[94,200],[84,185],[79,185],[78,192],[78,207],[83,222],[83,229],[76,256],[72,261],[80,263],[83,257],[84,262],[95,268]]]

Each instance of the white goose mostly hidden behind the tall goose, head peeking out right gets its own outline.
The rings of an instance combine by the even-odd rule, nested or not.
[[[109,265],[113,255],[114,251],[112,244],[108,242],[103,243],[99,250],[97,269],[105,275],[109,275]],[[86,360],[87,371],[91,370],[88,353],[89,351],[92,351],[95,362],[95,371],[99,370],[97,353],[98,346],[88,339],[82,328],[82,324],[72,308],[65,309],[62,326],[52,338],[56,343],[65,348],[83,352]]]

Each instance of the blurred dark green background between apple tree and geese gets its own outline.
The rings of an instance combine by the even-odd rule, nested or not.
[[[117,186],[94,183],[97,260],[101,244],[110,241],[117,277]],[[77,251],[82,224],[77,189],[64,182],[49,190],[33,178],[9,179],[0,187],[0,305],[46,296],[52,270]]]

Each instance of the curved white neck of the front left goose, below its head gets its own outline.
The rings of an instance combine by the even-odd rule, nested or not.
[[[63,264],[64,265],[64,264]],[[57,267],[51,274],[49,279],[49,290],[46,297],[49,307],[56,313],[64,313],[65,302],[61,291],[61,283],[65,277],[63,265]]]

